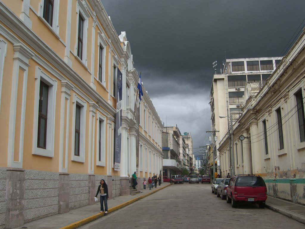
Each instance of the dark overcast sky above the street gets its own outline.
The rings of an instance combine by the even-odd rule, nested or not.
[[[164,125],[191,133],[194,148],[211,129],[212,63],[283,55],[305,16],[304,0],[101,1]]]

